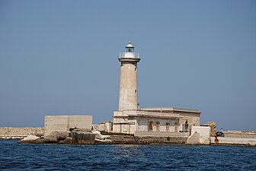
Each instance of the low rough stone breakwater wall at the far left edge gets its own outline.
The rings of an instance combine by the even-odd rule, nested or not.
[[[21,139],[28,135],[43,136],[44,128],[12,128],[2,127],[0,128],[0,139]]]

